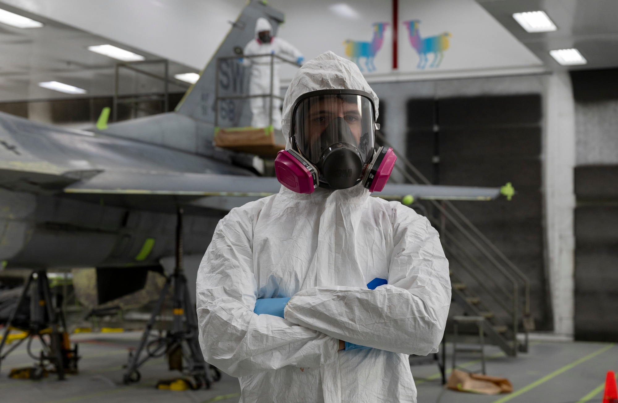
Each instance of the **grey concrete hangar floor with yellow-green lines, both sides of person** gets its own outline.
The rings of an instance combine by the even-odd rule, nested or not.
[[[156,381],[179,375],[167,370],[163,359],[150,360],[142,367],[142,380],[122,384],[122,365],[127,348],[137,345],[140,333],[85,333],[72,339],[80,343],[80,373],[57,381],[53,374],[41,381],[12,380],[10,368],[32,364],[20,347],[2,363],[0,402],[2,403],[129,403],[237,402],[240,392],[236,378],[223,374],[210,390],[161,391]],[[36,351],[36,350],[35,350]],[[447,365],[450,367],[450,354]],[[607,370],[618,370],[618,346],[608,343],[533,342],[530,352],[517,358],[505,357],[494,346],[486,347],[487,373],[509,378],[515,391],[499,396],[445,391],[438,367],[413,365],[419,403],[585,403],[600,402]],[[459,359],[460,357],[460,359]],[[458,355],[458,365],[478,370],[478,356]]]

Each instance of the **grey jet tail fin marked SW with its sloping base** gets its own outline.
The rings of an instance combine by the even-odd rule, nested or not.
[[[260,17],[268,18],[275,32],[279,23],[284,21],[284,14],[267,6],[266,1],[250,0],[236,21],[231,22],[232,26],[226,38],[201,71],[200,79],[180,100],[175,112],[110,123],[108,128],[105,123],[109,118],[109,112],[104,110],[101,112],[96,129],[104,130],[108,136],[125,137],[227,161],[229,152],[216,149],[212,145],[215,126],[216,60],[219,57],[233,57],[229,63],[221,63],[219,94],[247,94],[249,69],[237,62],[234,56],[242,57],[243,48],[255,36],[255,24]],[[219,121],[219,125],[250,126],[251,111],[249,108],[244,108],[244,104],[245,99],[226,100],[225,105],[219,108],[221,111],[219,117],[224,117],[225,121]]]

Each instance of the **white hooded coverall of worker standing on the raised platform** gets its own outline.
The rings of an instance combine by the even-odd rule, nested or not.
[[[294,46],[290,45],[281,38],[273,37],[270,43],[261,43],[258,39],[258,32],[270,31],[273,36],[273,26],[266,18],[260,17],[255,23],[255,38],[252,39],[245,50],[244,55],[263,55],[276,54],[286,59],[296,62],[302,54]],[[279,83],[279,65],[281,60],[274,59],[273,71],[273,94],[281,96],[281,84]],[[243,59],[243,64],[251,65],[251,82],[249,84],[249,94],[270,94],[271,92],[271,57],[255,57]],[[269,97],[251,98],[251,113],[253,114],[251,126],[254,128],[265,128],[268,126],[268,113],[270,108]],[[273,128],[281,130],[281,100],[273,99]]]

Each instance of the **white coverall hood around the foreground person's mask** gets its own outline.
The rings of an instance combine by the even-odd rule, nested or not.
[[[320,89],[357,89],[368,92],[376,107],[376,119],[378,118],[378,96],[365,80],[363,73],[358,70],[356,63],[337,56],[331,51],[324,52],[315,59],[305,62],[298,69],[287,89],[283,100],[282,118],[283,134],[287,139],[286,148],[289,148],[291,144],[289,136],[294,102],[303,94]]]

